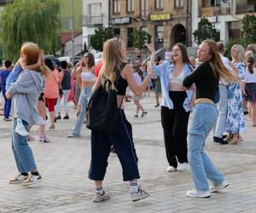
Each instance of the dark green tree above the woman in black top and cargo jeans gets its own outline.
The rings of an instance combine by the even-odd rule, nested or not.
[[[212,25],[212,23],[207,20],[207,18],[201,18],[198,23],[198,29],[193,32],[194,41],[197,44],[200,44],[203,40],[210,38],[216,42],[219,41],[219,32]]]

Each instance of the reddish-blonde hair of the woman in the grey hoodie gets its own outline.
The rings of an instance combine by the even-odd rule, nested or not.
[[[23,43],[20,49],[20,55],[26,55],[26,66],[34,65],[41,59],[41,66],[38,68],[44,77],[49,75],[49,69],[44,66],[44,56],[41,50],[38,48],[38,44],[32,42]]]

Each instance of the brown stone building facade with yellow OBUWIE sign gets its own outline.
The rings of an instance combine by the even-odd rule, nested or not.
[[[191,46],[191,1],[187,0],[110,0],[109,26],[130,48],[131,34],[142,29],[151,35],[155,48],[174,43]]]

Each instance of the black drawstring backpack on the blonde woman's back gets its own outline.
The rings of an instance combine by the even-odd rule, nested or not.
[[[119,73],[117,73],[117,78]],[[117,106],[117,92],[111,89],[106,89],[106,84],[111,85],[110,80],[106,80],[95,93],[91,95],[85,110],[86,127],[90,130],[101,133],[110,133],[115,129],[115,125],[119,116],[119,108]],[[123,96],[124,98],[124,96]]]

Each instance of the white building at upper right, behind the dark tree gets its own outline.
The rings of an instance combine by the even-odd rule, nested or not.
[[[256,15],[256,0],[192,0],[192,32],[197,30],[201,17],[205,17],[220,32],[220,40],[227,43],[230,37],[240,37],[240,20],[253,13]]]

